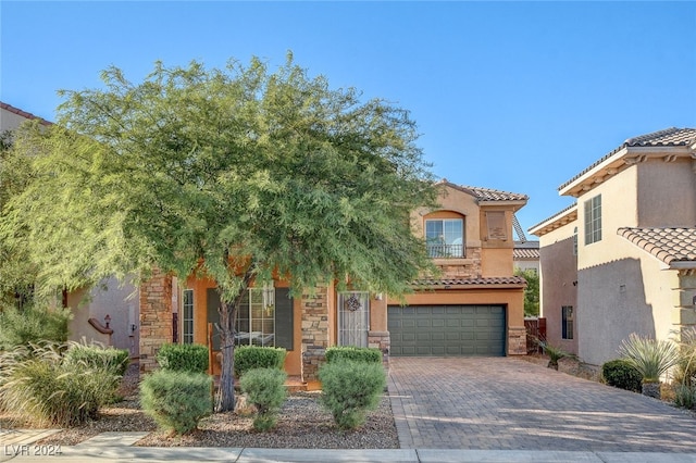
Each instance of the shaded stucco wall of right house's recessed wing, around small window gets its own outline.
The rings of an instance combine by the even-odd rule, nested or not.
[[[577,222],[571,222],[539,238],[540,316],[546,318],[546,338],[555,347],[577,354],[577,259],[573,236]],[[573,308],[573,339],[562,339],[561,308]]]

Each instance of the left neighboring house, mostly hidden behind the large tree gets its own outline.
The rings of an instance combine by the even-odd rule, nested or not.
[[[0,132],[14,130],[22,123],[38,120],[49,126],[50,122],[0,102]],[[97,340],[120,349],[128,349],[132,358],[138,356],[138,298],[133,285],[119,285],[115,279],[101,281],[90,291],[63,295],[62,304],[73,309],[70,338]],[[108,326],[107,326],[108,325]]]

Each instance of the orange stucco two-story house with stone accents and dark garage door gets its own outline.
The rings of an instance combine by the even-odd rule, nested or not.
[[[314,384],[331,346],[376,347],[389,355],[506,355],[525,353],[524,286],[513,276],[512,222],[526,196],[462,187],[446,180],[440,208],[412,213],[414,233],[424,240],[437,278],[399,305],[386,295],[335,287],[288,297],[287,281],[250,288],[237,317],[237,346],[287,349],[285,370]],[[220,342],[211,325],[219,321],[215,281],[189,277],[176,289],[157,275],[140,287],[140,366],[156,367],[153,356],[172,330],[181,342]],[[174,298],[173,298],[174,296]],[[178,306],[177,306],[178,305]],[[172,312],[176,311],[178,325]],[[216,362],[215,362],[216,363]],[[215,372],[219,365],[214,366]]]

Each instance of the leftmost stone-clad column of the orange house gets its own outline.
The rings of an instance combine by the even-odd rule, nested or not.
[[[157,368],[154,355],[172,342],[172,277],[154,271],[140,285],[140,372]]]

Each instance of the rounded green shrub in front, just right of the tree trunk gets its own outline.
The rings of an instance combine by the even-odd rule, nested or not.
[[[253,427],[269,430],[277,423],[277,411],[287,397],[287,374],[278,368],[253,368],[239,379],[241,391],[249,397],[258,410]]]

